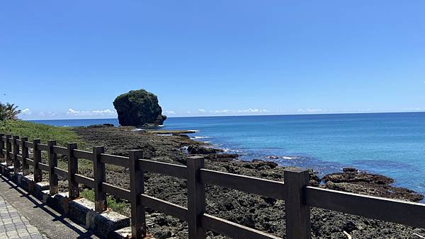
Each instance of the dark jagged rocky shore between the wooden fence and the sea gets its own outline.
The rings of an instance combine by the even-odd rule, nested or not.
[[[205,168],[226,173],[236,173],[283,181],[285,167],[273,161],[240,161],[235,154],[210,148],[203,142],[193,141],[186,134],[152,134],[133,131],[134,127],[77,127],[73,130],[91,146],[103,145],[106,153],[128,156],[129,149],[142,149],[144,157],[154,161],[185,164],[189,155],[204,156]],[[186,149],[187,148],[187,149]],[[87,169],[80,172],[92,175]],[[107,170],[107,182],[129,188],[129,172],[125,168]],[[356,192],[392,199],[419,202],[423,195],[412,190],[392,186],[390,177],[358,172],[344,168],[320,178],[310,170],[310,185],[344,192]],[[81,188],[81,190],[83,190]],[[186,206],[186,181],[174,177],[145,174],[147,194]],[[281,200],[246,194],[237,190],[206,185],[206,211],[208,214],[256,228],[279,237],[285,236],[285,203]],[[128,211],[127,211],[128,213]],[[362,218],[335,211],[315,209],[311,211],[312,238],[421,238],[425,230],[395,223]],[[188,238],[187,224],[171,216],[147,210],[148,231],[154,238]],[[208,238],[227,238],[208,232]]]

